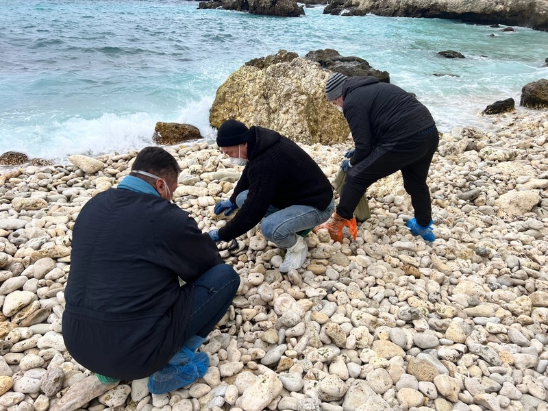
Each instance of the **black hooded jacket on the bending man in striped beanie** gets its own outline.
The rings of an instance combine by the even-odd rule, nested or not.
[[[343,114],[356,146],[352,165],[364,160],[373,147],[406,151],[406,140],[420,140],[416,135],[435,125],[419,100],[376,77],[349,77],[343,84],[343,101]]]

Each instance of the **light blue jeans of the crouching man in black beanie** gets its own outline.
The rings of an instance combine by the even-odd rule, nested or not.
[[[236,197],[238,208],[242,208],[247,199],[247,193],[248,190],[242,191]],[[297,232],[325,223],[334,210],[334,200],[323,211],[312,206],[289,206],[282,210],[270,206],[264,214],[261,232],[266,240],[273,242],[278,247],[289,248],[297,242]]]

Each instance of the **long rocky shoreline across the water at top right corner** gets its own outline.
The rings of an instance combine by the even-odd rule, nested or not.
[[[333,0],[326,14],[451,18],[470,23],[519,25],[548,30],[548,0]]]

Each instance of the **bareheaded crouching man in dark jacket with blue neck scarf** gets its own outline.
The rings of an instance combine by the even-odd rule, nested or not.
[[[146,147],[75,223],[62,329],[73,358],[101,382],[150,376],[149,390],[161,394],[208,371],[208,356],[195,351],[240,278],[171,203],[180,172],[173,155]]]

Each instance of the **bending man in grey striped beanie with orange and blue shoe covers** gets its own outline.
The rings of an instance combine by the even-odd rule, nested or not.
[[[345,155],[347,160],[342,164],[347,179],[336,213],[319,228],[327,228],[332,238],[342,240],[347,226],[356,238],[353,211],[367,188],[401,170],[416,214],[407,226],[413,234],[434,241],[426,177],[439,136],[428,109],[405,90],[375,77],[333,73],[325,95],[343,111],[356,148]]]

